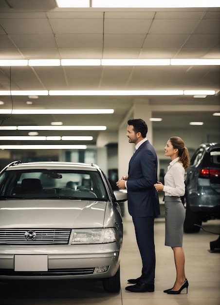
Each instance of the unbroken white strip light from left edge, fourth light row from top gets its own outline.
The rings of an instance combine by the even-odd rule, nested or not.
[[[0,109],[0,114],[113,114],[114,109]]]

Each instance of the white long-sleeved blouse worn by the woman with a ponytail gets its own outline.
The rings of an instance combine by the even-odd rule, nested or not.
[[[185,193],[183,164],[178,162],[179,157],[170,162],[164,177],[165,196],[183,196]]]

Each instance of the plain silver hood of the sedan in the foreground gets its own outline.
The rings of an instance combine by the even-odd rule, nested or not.
[[[94,200],[3,200],[0,228],[102,228],[106,205]]]

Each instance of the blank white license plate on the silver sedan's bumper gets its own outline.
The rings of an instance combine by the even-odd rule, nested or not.
[[[15,255],[15,271],[48,271],[48,255]]]

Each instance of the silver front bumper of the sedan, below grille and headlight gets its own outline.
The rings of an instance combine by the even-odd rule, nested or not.
[[[119,268],[120,253],[117,243],[0,246],[0,280],[108,278]]]

